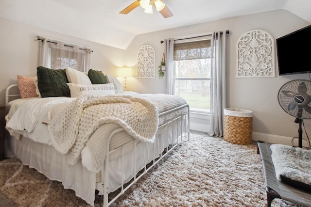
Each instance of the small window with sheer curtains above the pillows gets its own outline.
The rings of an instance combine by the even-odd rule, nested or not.
[[[51,69],[88,71],[90,67],[90,48],[41,38],[39,53],[39,65]]]

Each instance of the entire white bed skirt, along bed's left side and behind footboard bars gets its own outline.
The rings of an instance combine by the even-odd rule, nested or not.
[[[145,164],[159,157],[159,154],[170,143],[176,143],[176,138],[179,137],[178,139],[180,139],[182,131],[188,132],[189,130],[188,123],[186,122],[187,120],[185,117],[180,117],[174,122],[161,127],[156,133],[154,143],[133,141],[110,153],[109,192],[113,192],[120,188],[122,179],[124,183],[126,183],[136,175]],[[118,133],[122,132],[123,131]],[[115,136],[118,136],[118,133]],[[99,190],[100,194],[103,194],[102,182],[100,181],[96,183],[96,180],[99,181],[101,180],[101,176],[104,176],[104,167],[101,170],[102,174],[100,173],[96,175],[96,173],[88,171],[83,167],[81,159],[74,166],[69,166],[66,157],[59,154],[50,145],[36,143],[24,137],[21,137],[17,141],[9,135],[7,135],[5,142],[6,157],[17,157],[25,165],[35,168],[38,172],[46,175],[49,179],[62,182],[65,189],[74,190],[76,196],[84,199],[88,204],[94,206],[95,189]],[[136,153],[132,151],[134,143],[136,143]],[[148,153],[145,154],[145,150]],[[123,175],[121,164],[122,158],[120,157],[121,151],[124,153]],[[122,176],[123,178],[121,179]]]

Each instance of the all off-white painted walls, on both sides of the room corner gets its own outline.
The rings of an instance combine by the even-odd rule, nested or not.
[[[269,32],[276,39],[309,24],[288,11],[277,10],[140,34],[124,51],[0,18],[0,105],[4,105],[5,88],[16,83],[17,75],[35,76],[38,53],[37,35],[91,47],[94,50],[91,67],[116,76],[116,69],[123,65],[132,66],[133,71],[136,72],[137,52],[145,44],[155,48],[157,66],[164,50],[164,45],[160,44],[160,40],[230,30],[230,34],[227,35],[226,53],[227,107],[253,111],[254,140],[266,139],[266,141],[277,143],[290,143],[292,137],[298,136],[298,124],[294,123],[294,117],[286,114],[278,105],[277,92],[287,81],[309,79],[309,76],[301,74],[282,77],[277,75],[276,78],[237,79],[235,77],[236,42],[244,32],[254,29]],[[309,67],[309,65],[306,66]],[[276,64],[276,73],[277,70]],[[155,79],[127,78],[127,89],[139,93],[164,93],[165,81],[157,76]],[[198,120],[194,122],[199,124],[196,122]],[[304,122],[307,132],[311,134],[311,120],[304,120]]]

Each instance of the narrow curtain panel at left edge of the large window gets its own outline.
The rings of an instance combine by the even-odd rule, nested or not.
[[[166,69],[166,94],[173,95],[173,71],[174,71],[174,39],[165,39],[165,69]]]

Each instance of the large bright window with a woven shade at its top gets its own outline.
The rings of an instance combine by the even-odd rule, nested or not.
[[[174,43],[174,95],[185,98],[190,111],[210,112],[210,40]]]

